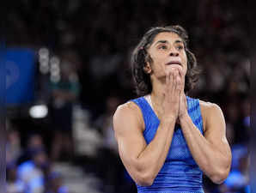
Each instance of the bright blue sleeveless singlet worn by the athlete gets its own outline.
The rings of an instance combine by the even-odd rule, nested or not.
[[[131,100],[139,106],[143,113],[145,130],[143,136],[147,144],[155,136],[160,120],[144,97]],[[203,119],[201,116],[199,100],[186,96],[189,116],[204,135]],[[204,193],[202,184],[203,172],[193,160],[192,154],[186,144],[180,125],[175,126],[174,136],[162,169],[157,174],[151,186],[137,184],[138,193]]]

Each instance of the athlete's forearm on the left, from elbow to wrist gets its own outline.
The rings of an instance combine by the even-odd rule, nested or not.
[[[164,119],[159,124],[154,139],[138,155],[137,161],[141,172],[149,172],[155,178],[168,155],[174,135],[175,119]]]

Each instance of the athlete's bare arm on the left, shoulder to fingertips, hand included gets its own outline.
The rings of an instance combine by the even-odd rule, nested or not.
[[[119,155],[131,178],[139,185],[153,184],[166,160],[178,117],[181,83],[178,71],[166,78],[167,89],[162,103],[160,124],[154,139],[147,144],[143,137],[143,116],[134,103],[119,106],[113,116],[113,129]]]

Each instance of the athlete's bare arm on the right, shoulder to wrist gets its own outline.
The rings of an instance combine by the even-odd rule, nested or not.
[[[200,107],[204,119],[204,136],[187,112],[180,116],[181,130],[198,166],[214,183],[222,184],[229,175],[231,165],[225,120],[219,106],[200,101]]]

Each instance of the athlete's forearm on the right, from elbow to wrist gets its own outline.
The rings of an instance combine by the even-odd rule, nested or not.
[[[219,183],[218,179],[229,173],[229,156],[225,154],[227,151],[207,141],[187,113],[180,118],[180,126],[193,159],[209,178]]]

